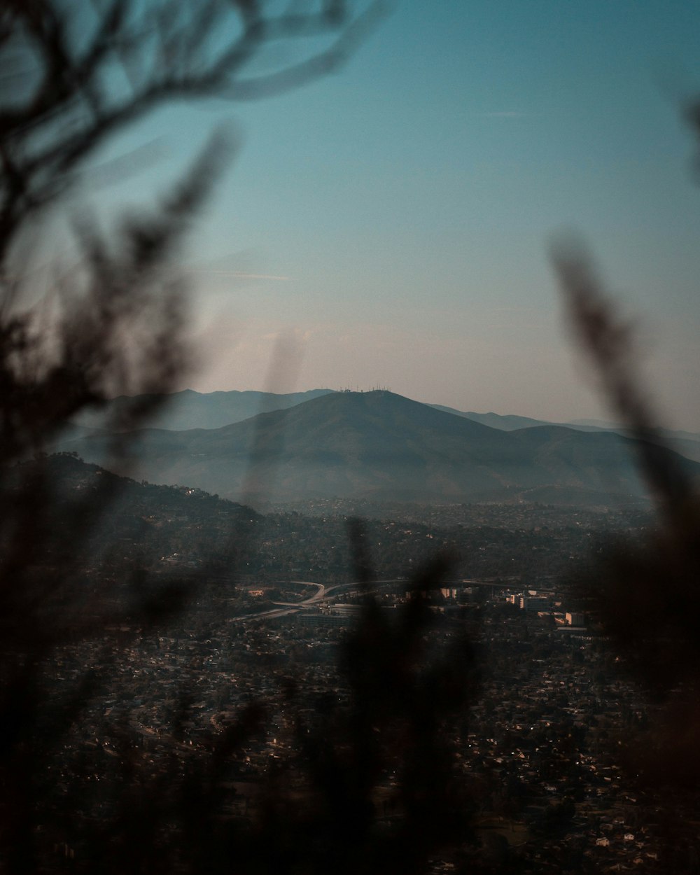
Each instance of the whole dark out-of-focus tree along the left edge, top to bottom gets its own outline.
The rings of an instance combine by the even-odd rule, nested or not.
[[[173,100],[250,100],[297,88],[339,67],[383,11],[375,0],[283,7],[267,0],[9,0],[0,9],[4,871],[37,872],[45,865],[37,813],[50,778],[42,770],[98,682],[86,671],[69,695],[47,702],[42,674],[59,643],[101,634],[108,613],[106,607],[102,611],[104,593],[86,612],[75,576],[87,535],[120,488],[118,479],[103,477],[87,496],[66,504],[52,480],[55,464],[46,464],[43,452],[71,416],[113,395],[151,394],[122,424],[144,423],[158,403],[155,395],[172,388],[187,367],[186,296],[182,283],[172,279],[172,267],[231,144],[214,136],[150,215],[124,216],[109,235],[79,225],[79,269],[70,280],[56,277],[52,295],[36,304],[31,255],[42,221],[65,207],[66,193],[97,148],[139,116]],[[302,52],[306,38],[313,38],[313,45],[325,38],[325,47],[300,54],[288,66],[255,72],[270,45],[295,43]],[[121,451],[117,437],[113,452]],[[17,465],[32,456],[31,465]],[[130,611],[137,610],[144,628],[177,613],[196,583],[172,579],[154,594],[139,590],[143,580],[138,568],[134,571],[137,607]],[[243,714],[229,727],[217,755],[223,756],[257,720],[255,708]],[[128,747],[128,740],[124,744]],[[214,791],[207,797],[207,788],[218,761],[214,756],[201,767],[199,783],[186,784],[191,794],[200,795],[202,816],[214,799]],[[136,810],[143,814],[144,806],[121,809],[124,837],[153,838],[155,823],[129,819]],[[120,871],[129,862],[129,855],[117,855],[110,865]]]

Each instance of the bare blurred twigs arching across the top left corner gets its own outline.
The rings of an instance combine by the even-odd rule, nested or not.
[[[297,88],[341,66],[388,4],[374,0],[358,13],[347,0],[325,0],[286,14],[271,5],[83,0],[69,12],[56,0],[11,0],[0,19],[0,66],[31,59],[33,86],[0,102],[0,261],[26,218],[64,192],[119,128],[175,99],[250,100]],[[89,18],[82,45],[75,31]],[[270,45],[309,38],[330,45],[249,72]]]

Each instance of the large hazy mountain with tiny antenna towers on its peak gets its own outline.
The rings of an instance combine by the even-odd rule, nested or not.
[[[106,438],[64,449],[131,477],[235,500],[372,497],[404,501],[542,500],[597,504],[644,494],[634,441],[561,426],[489,428],[386,391],[336,392],[220,429],[147,429],[132,458]],[[689,476],[700,465],[678,457]]]

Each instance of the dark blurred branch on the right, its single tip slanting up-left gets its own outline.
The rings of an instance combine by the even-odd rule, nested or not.
[[[660,511],[659,525],[643,541],[620,540],[606,549],[584,590],[627,666],[663,701],[646,735],[625,739],[635,780],[655,787],[697,784],[700,639],[700,504],[682,460],[669,451],[641,385],[634,334],[619,317],[596,276],[591,256],[574,243],[553,251],[571,332],[591,361],[602,394],[632,430],[641,472]],[[622,744],[622,742],[621,742]]]

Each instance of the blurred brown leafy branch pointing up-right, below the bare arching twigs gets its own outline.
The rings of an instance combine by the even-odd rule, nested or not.
[[[222,137],[214,138],[151,216],[123,221],[111,248],[95,228],[79,229],[85,262],[50,336],[31,312],[0,325],[5,464],[41,450],[81,408],[120,392],[162,391],[186,367],[183,302],[177,285],[161,274],[229,151]],[[147,412],[133,410],[135,423]]]

